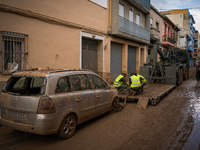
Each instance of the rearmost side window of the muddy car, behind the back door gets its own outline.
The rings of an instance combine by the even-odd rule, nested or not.
[[[58,80],[55,93],[66,93],[70,91],[71,91],[71,88],[70,88],[68,78],[67,77],[60,78]]]

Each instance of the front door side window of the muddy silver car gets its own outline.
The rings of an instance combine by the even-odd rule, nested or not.
[[[104,89],[107,87],[107,84],[98,76],[90,75],[90,78],[92,80],[92,87],[94,89]]]

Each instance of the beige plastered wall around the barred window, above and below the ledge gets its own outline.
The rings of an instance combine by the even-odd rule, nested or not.
[[[107,9],[88,0],[0,0],[0,3],[22,11],[31,11],[55,19],[80,23],[87,28],[105,32],[107,29]],[[79,5],[76,5],[79,3]],[[91,13],[92,12],[92,13]],[[0,12],[0,31],[24,33],[28,35],[27,61],[32,67],[80,68],[81,29],[55,25],[38,19]],[[91,31],[89,31],[91,32]],[[99,34],[99,33],[98,33]],[[98,47],[103,49],[103,43]],[[98,54],[103,55],[103,54]],[[103,60],[99,60],[102,62]],[[100,65],[99,65],[100,66]],[[28,66],[27,66],[28,67]],[[101,67],[100,69],[102,69]]]

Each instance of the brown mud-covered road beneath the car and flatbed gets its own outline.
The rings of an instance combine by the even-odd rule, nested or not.
[[[190,79],[157,106],[136,108],[127,103],[118,113],[108,113],[79,125],[75,135],[61,140],[55,135],[30,135],[0,127],[0,149],[48,150],[199,150],[200,83],[195,69]]]

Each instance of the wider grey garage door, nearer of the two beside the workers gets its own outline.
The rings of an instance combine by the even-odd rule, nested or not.
[[[122,73],[122,44],[111,42],[111,82]]]

